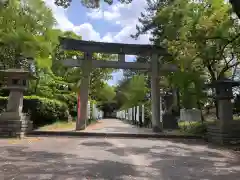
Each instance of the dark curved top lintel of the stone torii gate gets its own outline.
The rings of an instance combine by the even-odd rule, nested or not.
[[[166,49],[160,46],[140,45],[140,44],[121,44],[83,41],[60,37],[60,44],[64,50],[77,50],[90,53],[106,54],[129,54],[129,55],[167,55]]]

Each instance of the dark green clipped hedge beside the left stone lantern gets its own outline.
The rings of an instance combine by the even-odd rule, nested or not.
[[[8,97],[0,97],[1,111],[6,108]],[[23,112],[30,115],[34,128],[68,119],[68,107],[58,100],[39,96],[24,96]]]

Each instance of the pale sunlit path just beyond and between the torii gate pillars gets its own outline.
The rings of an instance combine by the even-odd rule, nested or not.
[[[119,119],[102,119],[98,123],[90,125],[85,132],[107,133],[152,133],[150,128],[138,128]]]

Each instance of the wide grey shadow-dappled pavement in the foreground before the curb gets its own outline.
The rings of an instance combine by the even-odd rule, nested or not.
[[[1,180],[239,180],[237,154],[194,142],[0,140]]]

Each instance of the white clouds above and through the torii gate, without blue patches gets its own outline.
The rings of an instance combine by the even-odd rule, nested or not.
[[[104,41],[104,42],[119,42],[119,43],[131,43],[131,44],[148,44],[149,34],[142,35],[138,40],[134,40],[130,37],[131,34],[136,33],[136,24],[138,23],[138,17],[143,12],[146,6],[145,0],[133,1],[130,4],[117,3],[112,6],[108,6],[105,9],[89,10],[87,16],[91,19],[103,19],[108,23],[116,24],[121,29],[119,32],[108,32],[105,35],[100,35],[99,32],[94,30],[93,26],[86,22],[80,25],[74,25],[67,17],[66,10],[58,7],[54,4],[54,0],[43,0],[52,9],[53,14],[57,20],[56,28],[63,31],[71,30],[76,34],[82,36],[84,40]],[[133,56],[127,56],[128,61],[133,60]],[[116,84],[118,80],[122,78],[122,71],[119,71],[113,75],[113,79],[110,84]]]

